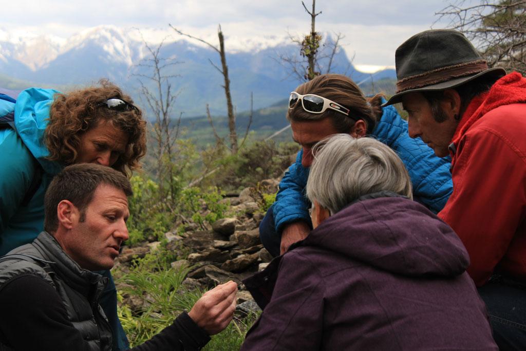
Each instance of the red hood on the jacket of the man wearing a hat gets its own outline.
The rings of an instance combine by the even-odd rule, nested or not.
[[[521,103],[526,103],[526,78],[520,73],[513,72],[498,79],[489,92],[472,99],[453,135],[453,144],[458,145],[468,129],[492,109]]]

